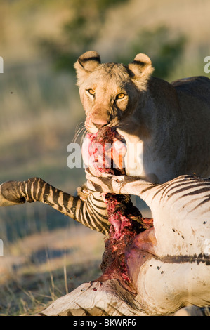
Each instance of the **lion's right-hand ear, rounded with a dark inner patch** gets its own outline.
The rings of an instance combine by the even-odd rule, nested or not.
[[[142,81],[149,79],[150,74],[154,71],[150,58],[142,53],[136,55],[133,62],[128,65],[133,79],[141,79]]]

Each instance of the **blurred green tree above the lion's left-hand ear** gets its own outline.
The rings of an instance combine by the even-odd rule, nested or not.
[[[110,8],[129,0],[70,0],[72,18],[63,26],[62,40],[42,38],[39,46],[58,70],[73,70],[78,56],[88,51],[100,35]]]

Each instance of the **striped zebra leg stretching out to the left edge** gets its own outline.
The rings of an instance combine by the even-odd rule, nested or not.
[[[41,202],[70,216],[91,230],[107,235],[110,223],[107,220],[106,206],[100,193],[88,194],[86,198],[81,195],[74,197],[46,183],[41,178],[29,178],[26,181],[2,183],[0,185],[0,206]]]

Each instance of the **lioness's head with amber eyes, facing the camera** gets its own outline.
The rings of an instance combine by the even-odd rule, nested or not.
[[[153,72],[150,58],[138,54],[129,65],[100,63],[96,51],[81,55],[74,65],[86,129],[96,133],[102,126],[118,127],[133,114]],[[141,96],[141,97],[140,97]]]

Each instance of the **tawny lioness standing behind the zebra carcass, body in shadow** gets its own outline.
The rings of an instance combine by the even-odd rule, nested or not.
[[[150,58],[100,62],[87,51],[74,64],[88,132],[117,128],[127,147],[126,175],[164,183],[183,174],[210,176],[210,79],[171,84],[152,76]]]

